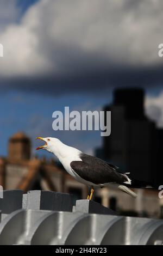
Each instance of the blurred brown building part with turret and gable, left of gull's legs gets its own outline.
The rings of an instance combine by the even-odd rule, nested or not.
[[[30,139],[17,132],[9,139],[8,157],[0,158],[0,184],[4,190],[52,190],[87,196],[86,187],[78,184],[53,160],[31,158]]]

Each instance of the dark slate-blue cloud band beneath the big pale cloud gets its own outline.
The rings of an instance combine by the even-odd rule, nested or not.
[[[99,67],[100,69],[101,67]],[[43,77],[17,77],[4,78],[0,82],[1,90],[17,89],[27,92],[45,94],[67,94],[77,92],[103,93],[105,89],[115,87],[154,87],[163,82],[163,66],[154,66],[146,69],[118,69],[75,74],[74,76],[43,76]]]

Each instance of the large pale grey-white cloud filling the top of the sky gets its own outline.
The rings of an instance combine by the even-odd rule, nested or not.
[[[40,0],[20,24],[1,34],[0,74],[62,75],[162,64],[162,11],[162,0]]]

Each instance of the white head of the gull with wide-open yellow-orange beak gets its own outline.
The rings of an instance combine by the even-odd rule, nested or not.
[[[36,150],[45,149],[50,153],[53,153],[54,151],[53,149],[58,144],[58,142],[60,142],[59,139],[51,138],[51,137],[47,137],[47,138],[37,137],[36,139],[40,139],[41,141],[45,142],[45,144],[43,144],[42,146],[37,147]]]

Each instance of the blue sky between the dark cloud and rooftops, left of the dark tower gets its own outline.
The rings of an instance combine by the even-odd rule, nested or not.
[[[69,106],[70,111],[100,110],[111,102],[111,94],[97,97],[91,94],[73,94],[48,96],[11,91],[0,95],[1,108],[1,155],[7,155],[8,138],[17,131],[24,131],[32,139],[33,149],[38,144],[36,136],[58,137],[67,144],[92,154],[93,149],[101,145],[98,131],[53,131],[52,113],[62,111]],[[34,152],[34,151],[33,151]],[[45,151],[39,155],[46,154]],[[47,154],[46,154],[47,155]]]

